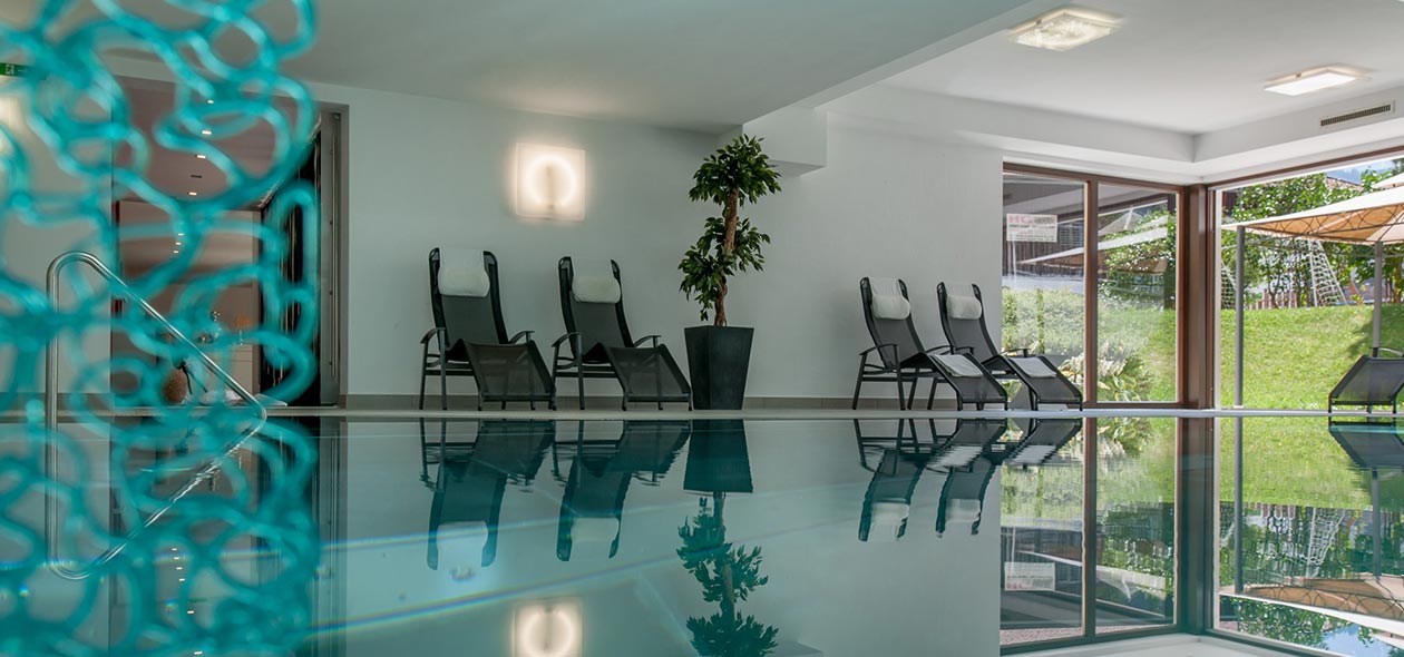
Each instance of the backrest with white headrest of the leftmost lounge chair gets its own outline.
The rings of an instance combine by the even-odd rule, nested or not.
[[[445,264],[439,248],[430,251],[430,300],[434,306],[434,326],[446,333],[448,357],[462,361],[468,358],[465,343],[505,344],[507,327],[503,323],[501,292],[497,285],[497,257],[483,253],[482,272],[473,271],[475,263],[449,261]],[[470,260],[477,251],[465,251],[463,260]],[[486,277],[487,289],[462,285],[463,278]],[[441,278],[453,281],[448,291],[441,289]]]

